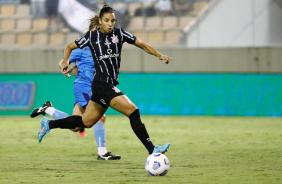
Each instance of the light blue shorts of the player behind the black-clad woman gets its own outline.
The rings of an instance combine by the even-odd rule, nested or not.
[[[80,107],[84,108],[91,99],[91,84],[74,83],[73,92],[75,96],[75,103],[78,103]]]

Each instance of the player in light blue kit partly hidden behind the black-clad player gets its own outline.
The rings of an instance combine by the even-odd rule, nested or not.
[[[91,20],[90,20],[91,21]],[[89,30],[96,29],[95,22],[91,21]],[[59,63],[59,65],[61,62]],[[76,76],[74,81],[74,96],[75,103],[73,109],[73,115],[82,116],[85,112],[86,106],[91,99],[91,83],[93,81],[94,61],[89,47],[83,49],[75,49],[70,56],[70,64],[75,64],[72,73]],[[70,75],[67,75],[70,77]],[[52,106],[52,103],[47,101],[42,107],[36,108],[32,111],[31,117],[36,117],[39,114],[48,114],[54,119],[63,119],[69,115],[65,112],[59,111]],[[98,147],[98,160],[119,160],[119,155],[112,155],[111,152],[107,152],[105,145],[105,123],[106,117],[103,115],[98,123],[94,126],[94,135]],[[86,136],[84,128],[75,128],[72,131],[80,131],[80,136]]]

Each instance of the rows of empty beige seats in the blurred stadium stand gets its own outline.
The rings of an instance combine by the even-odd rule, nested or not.
[[[127,3],[130,21],[126,30],[152,45],[179,43],[183,31],[209,4],[204,0],[189,1],[193,6],[184,14],[171,11],[166,16],[146,16],[143,3],[139,0]],[[29,4],[0,4],[0,45],[63,47],[81,36],[62,24],[53,25],[50,18],[32,17]]]

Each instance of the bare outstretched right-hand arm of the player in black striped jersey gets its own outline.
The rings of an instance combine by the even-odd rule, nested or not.
[[[156,57],[158,57],[160,60],[164,60],[164,62],[166,64],[169,63],[170,60],[172,60],[171,57],[168,57],[166,55],[161,54],[160,52],[158,52],[155,48],[153,48],[152,46],[148,45],[147,43],[143,42],[142,40],[140,40],[139,38],[136,38],[134,44],[136,47],[139,47],[141,49],[143,49],[145,52],[152,54]]]

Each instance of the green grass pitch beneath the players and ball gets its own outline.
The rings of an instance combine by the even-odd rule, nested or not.
[[[147,151],[124,116],[108,116],[107,149],[98,161],[88,137],[52,130],[37,142],[40,118],[0,116],[0,183],[282,183],[282,118],[143,116],[154,144],[171,143],[171,168],[149,176]]]

